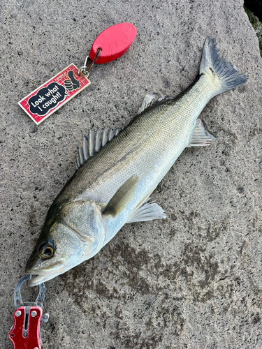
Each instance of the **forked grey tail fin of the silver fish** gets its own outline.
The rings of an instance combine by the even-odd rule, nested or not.
[[[208,36],[203,48],[200,73],[205,73],[214,79],[214,84],[217,86],[214,96],[244,84],[247,76],[239,72],[239,68],[221,57],[219,45]]]

